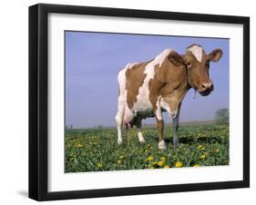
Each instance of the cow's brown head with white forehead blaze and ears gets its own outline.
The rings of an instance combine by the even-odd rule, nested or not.
[[[191,44],[187,48],[187,53],[183,55],[189,84],[202,96],[206,96],[213,91],[213,83],[209,76],[210,62],[218,62],[221,56],[222,51],[220,49],[205,54],[199,44]]]

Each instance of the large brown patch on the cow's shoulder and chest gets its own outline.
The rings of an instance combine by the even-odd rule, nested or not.
[[[157,110],[159,96],[168,97],[170,110],[174,111],[187,93],[188,83],[185,66],[179,61],[175,62],[172,63],[168,56],[161,66],[159,64],[155,66],[154,78],[148,83],[149,101],[152,103],[154,112]]]

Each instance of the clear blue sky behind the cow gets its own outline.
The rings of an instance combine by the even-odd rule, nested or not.
[[[229,108],[229,39],[66,32],[65,41],[66,124],[75,128],[115,125],[118,70],[127,63],[148,61],[166,48],[185,54],[189,44],[202,45],[206,54],[220,48],[223,56],[210,63],[213,93],[194,98],[190,89],[182,102],[180,122],[212,120],[216,110]]]

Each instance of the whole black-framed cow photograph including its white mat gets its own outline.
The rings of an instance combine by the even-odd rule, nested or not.
[[[250,186],[250,19],[29,7],[29,197]]]

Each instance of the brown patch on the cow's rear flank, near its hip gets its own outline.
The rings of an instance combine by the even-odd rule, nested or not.
[[[128,68],[126,72],[126,89],[128,91],[127,103],[129,109],[137,102],[138,89],[143,85],[147,76],[144,72],[148,63],[149,62],[134,64],[131,68]]]

